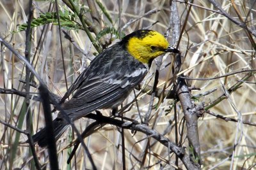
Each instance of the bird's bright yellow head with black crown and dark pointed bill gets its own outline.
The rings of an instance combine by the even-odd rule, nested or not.
[[[149,64],[165,52],[179,53],[179,50],[170,47],[164,36],[157,31],[138,30],[125,36],[122,41],[127,51],[144,64]]]

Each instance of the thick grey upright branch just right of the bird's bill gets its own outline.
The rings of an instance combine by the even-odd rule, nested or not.
[[[188,6],[188,12],[186,15],[186,18],[184,20],[184,25],[182,25],[181,31],[177,29],[177,24],[179,24],[179,13],[177,10],[177,3],[173,2],[172,4],[172,12],[173,12],[173,41],[177,42],[177,45],[179,46],[180,43],[180,34],[182,34],[185,30],[186,24],[188,23],[189,14],[191,11],[191,5]],[[177,74],[182,66],[181,62],[181,55],[176,56],[175,60],[176,70],[175,74]],[[200,157],[200,142],[199,142],[199,134],[198,134],[198,117],[196,115],[196,111],[194,110],[193,103],[191,101],[191,96],[189,93],[188,85],[186,84],[186,81],[182,78],[178,78],[177,80],[178,84],[175,87],[177,96],[179,97],[180,104],[182,106],[182,110],[184,112],[184,118],[186,120],[186,127],[187,127],[187,137],[189,142],[189,157],[190,160],[196,164],[198,167],[202,164],[202,160]]]

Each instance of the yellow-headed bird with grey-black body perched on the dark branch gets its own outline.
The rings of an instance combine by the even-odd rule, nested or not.
[[[93,111],[117,108],[150,69],[152,60],[166,52],[180,53],[163,34],[140,29],[125,36],[103,52],[77,77],[62,97],[61,108],[75,121]],[[74,96],[67,101],[70,94]],[[52,122],[56,141],[69,124],[61,113]],[[32,136],[40,147],[47,146],[45,128]]]

